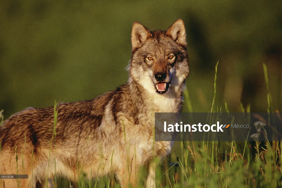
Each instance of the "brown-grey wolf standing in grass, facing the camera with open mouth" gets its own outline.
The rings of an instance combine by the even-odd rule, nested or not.
[[[55,175],[77,181],[114,175],[122,188],[135,187],[146,166],[146,187],[155,187],[153,159],[163,159],[172,141],[154,141],[154,113],[180,112],[189,74],[182,19],[167,31],[134,22],[128,82],[82,102],[26,108],[0,129],[0,187],[42,187]],[[56,114],[56,115],[54,115]],[[47,181],[46,181],[47,180]]]

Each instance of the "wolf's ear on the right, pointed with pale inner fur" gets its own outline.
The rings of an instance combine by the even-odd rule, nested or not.
[[[177,44],[186,46],[186,33],[182,19],[176,20],[175,23],[173,23],[167,30],[166,35],[171,36]]]

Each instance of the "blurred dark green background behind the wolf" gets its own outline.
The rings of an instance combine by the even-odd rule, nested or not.
[[[216,107],[266,112],[262,64],[274,109],[282,111],[282,1],[0,2],[0,110],[4,117],[54,100],[92,99],[126,83],[134,21],[150,30],[185,22],[194,112]]]

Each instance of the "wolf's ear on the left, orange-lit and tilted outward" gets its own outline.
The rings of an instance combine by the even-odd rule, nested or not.
[[[152,34],[148,29],[139,22],[134,22],[131,32],[132,51],[141,47],[149,36]]]

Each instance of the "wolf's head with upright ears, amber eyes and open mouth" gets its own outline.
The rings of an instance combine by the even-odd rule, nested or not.
[[[182,93],[189,74],[183,20],[176,20],[167,31],[149,31],[134,22],[131,42],[129,81],[157,95]]]

